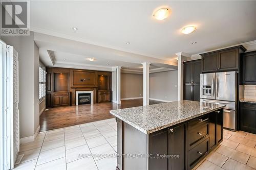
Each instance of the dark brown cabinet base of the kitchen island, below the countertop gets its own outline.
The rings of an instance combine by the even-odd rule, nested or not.
[[[223,109],[150,134],[119,118],[117,127],[117,154],[149,157],[118,157],[116,169],[190,170],[223,140]]]

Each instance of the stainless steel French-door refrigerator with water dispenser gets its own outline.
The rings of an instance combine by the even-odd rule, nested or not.
[[[237,130],[237,73],[213,72],[200,75],[200,101],[224,104],[224,128]]]

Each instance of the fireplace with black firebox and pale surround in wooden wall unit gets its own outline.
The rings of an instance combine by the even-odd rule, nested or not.
[[[93,104],[93,91],[76,91],[76,105]]]

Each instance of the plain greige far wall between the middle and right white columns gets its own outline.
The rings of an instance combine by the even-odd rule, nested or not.
[[[150,74],[150,99],[177,101],[178,70]]]

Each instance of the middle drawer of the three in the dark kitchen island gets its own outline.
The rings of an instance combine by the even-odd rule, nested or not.
[[[189,147],[197,144],[201,139],[209,135],[209,123],[202,126],[197,126],[188,133],[188,143]]]

